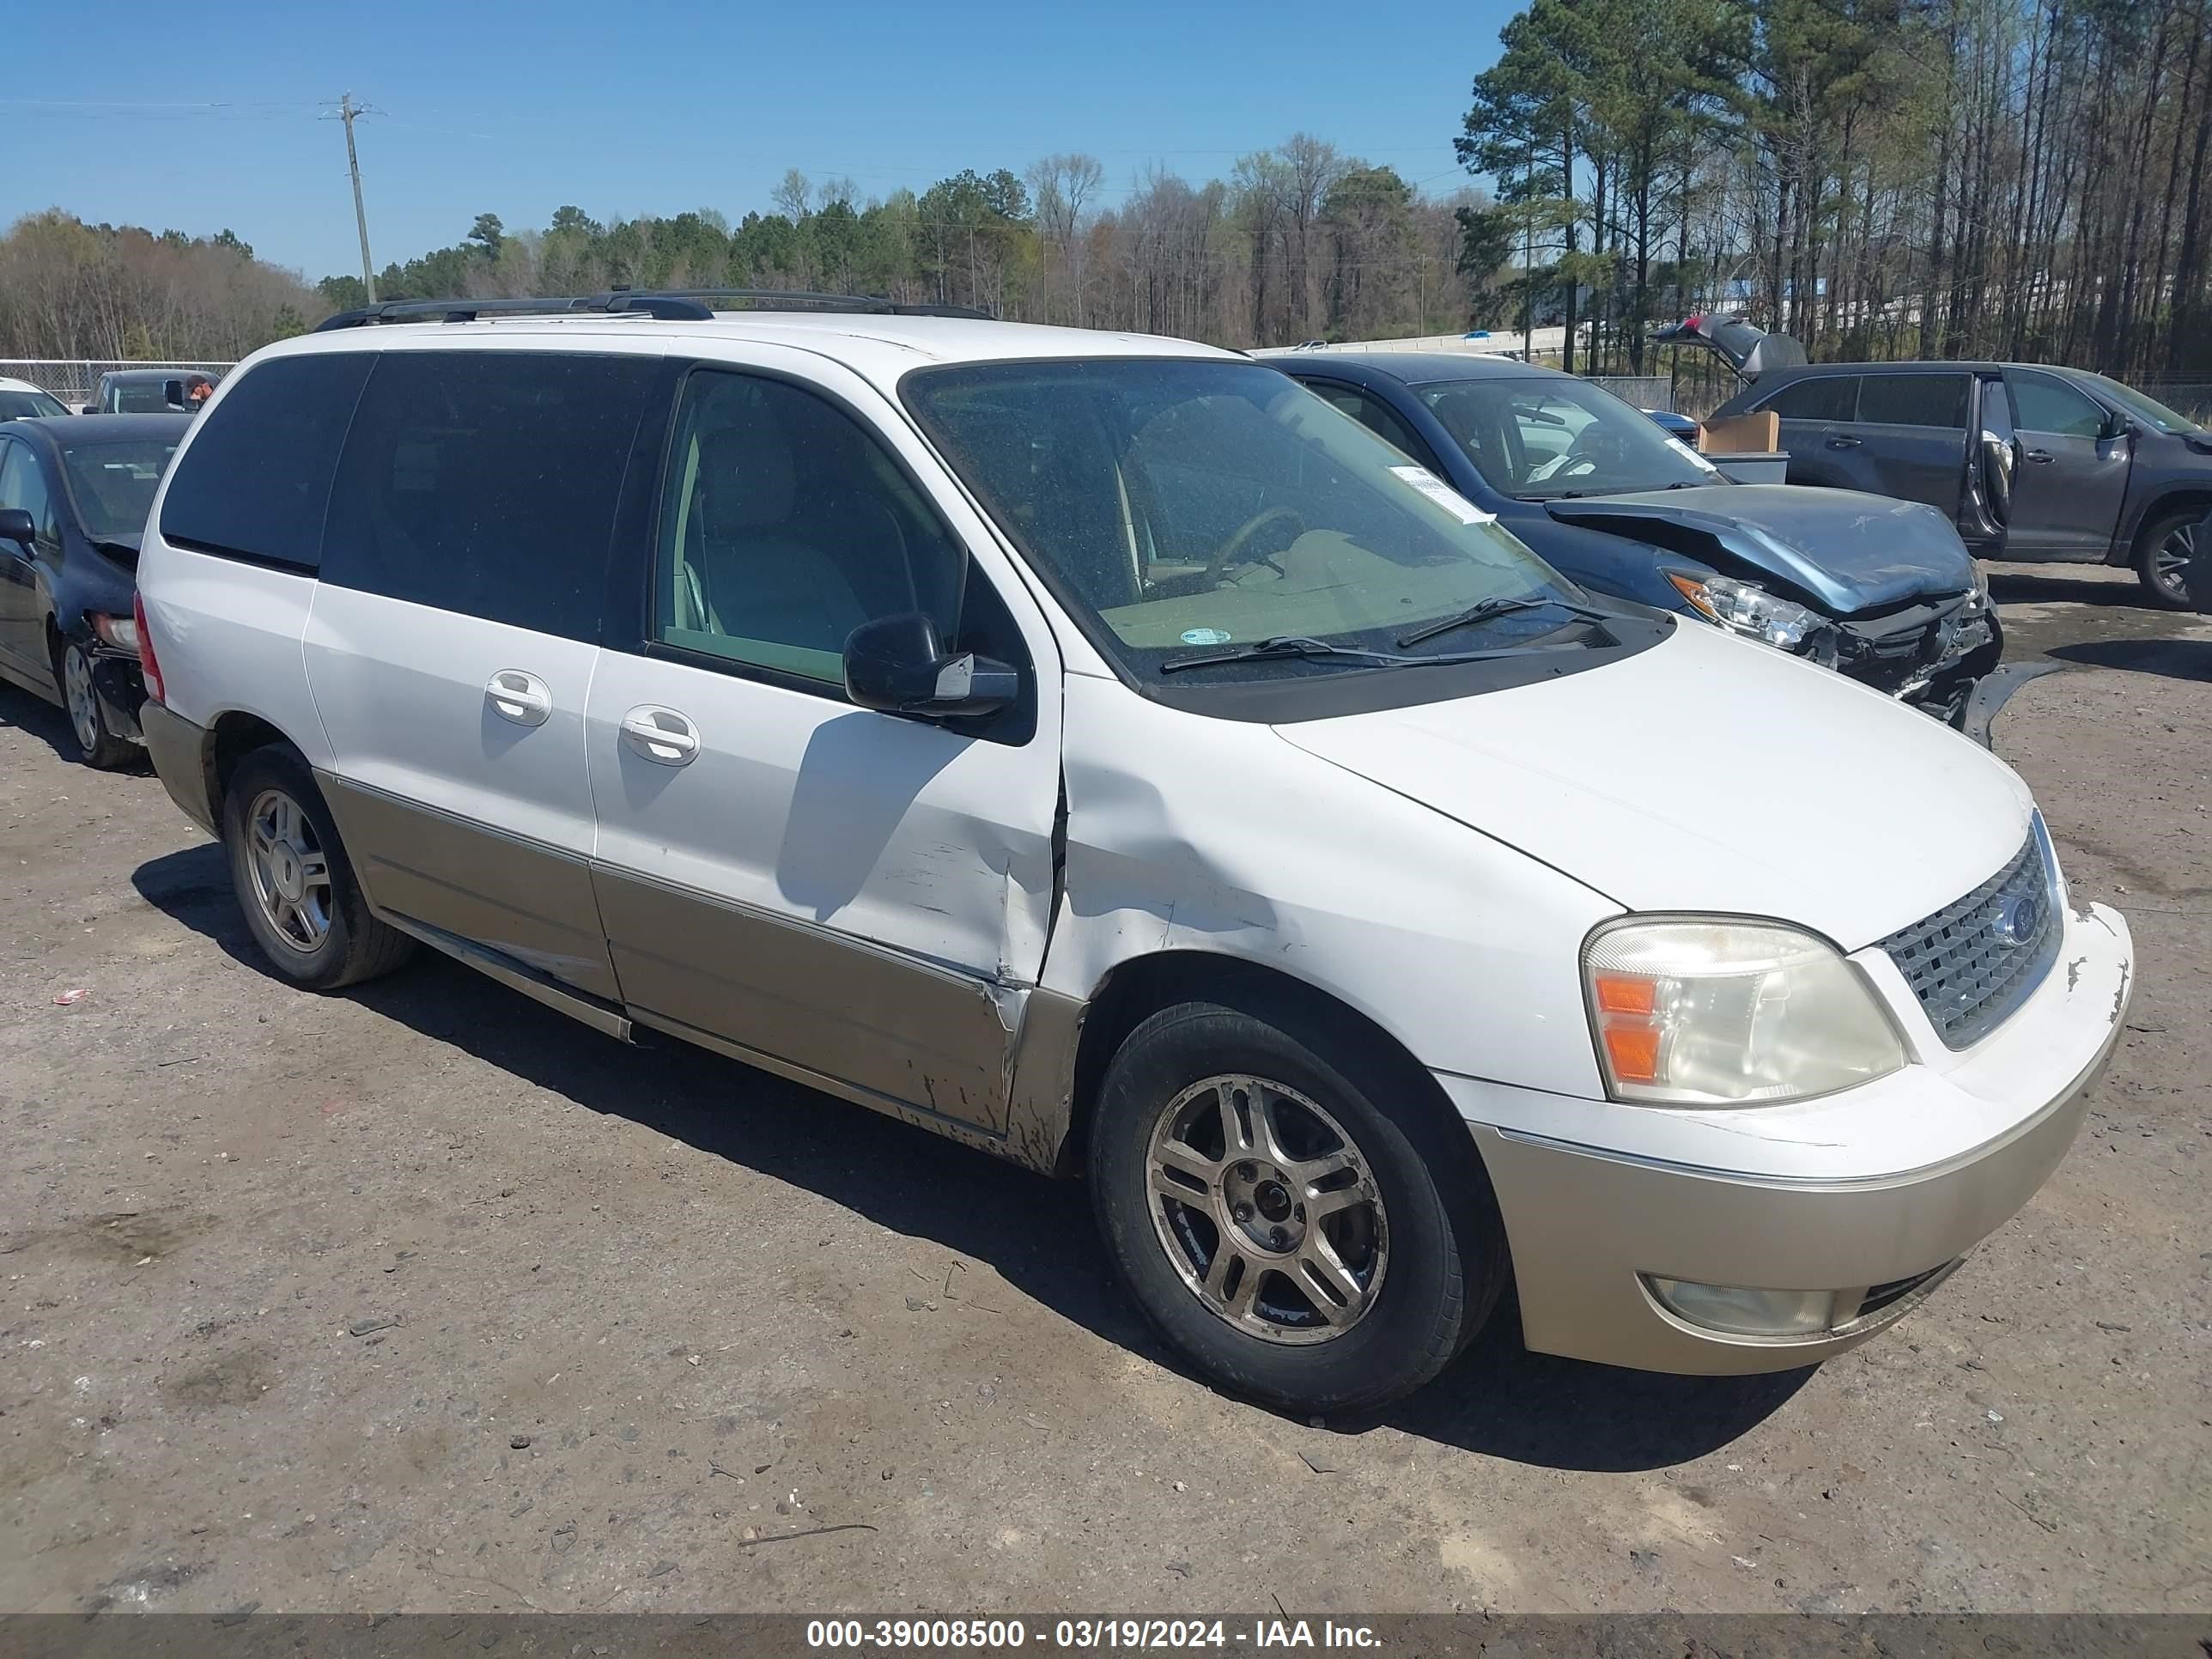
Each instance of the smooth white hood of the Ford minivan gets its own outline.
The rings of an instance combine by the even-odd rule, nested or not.
[[[1590,672],[1276,734],[1628,909],[1776,916],[1845,951],[2002,869],[2033,810],[1927,714],[1694,624]]]

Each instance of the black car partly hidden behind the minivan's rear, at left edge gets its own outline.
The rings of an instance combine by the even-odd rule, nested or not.
[[[139,535],[190,416],[0,425],[0,679],[58,701],[88,765],[139,752]]]

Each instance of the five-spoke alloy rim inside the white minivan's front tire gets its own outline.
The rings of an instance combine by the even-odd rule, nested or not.
[[[1318,1102],[1265,1077],[1206,1077],[1168,1102],[1146,1208],[1190,1294],[1270,1343],[1343,1336],[1389,1267],[1367,1157]]]

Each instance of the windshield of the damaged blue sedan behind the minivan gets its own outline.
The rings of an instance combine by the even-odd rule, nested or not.
[[[1416,387],[1500,495],[1624,495],[1717,484],[1721,473],[1604,387],[1564,374]]]

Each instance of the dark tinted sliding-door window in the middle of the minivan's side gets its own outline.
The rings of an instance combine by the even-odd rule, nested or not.
[[[330,498],[323,580],[597,639],[657,358],[385,352]]]

